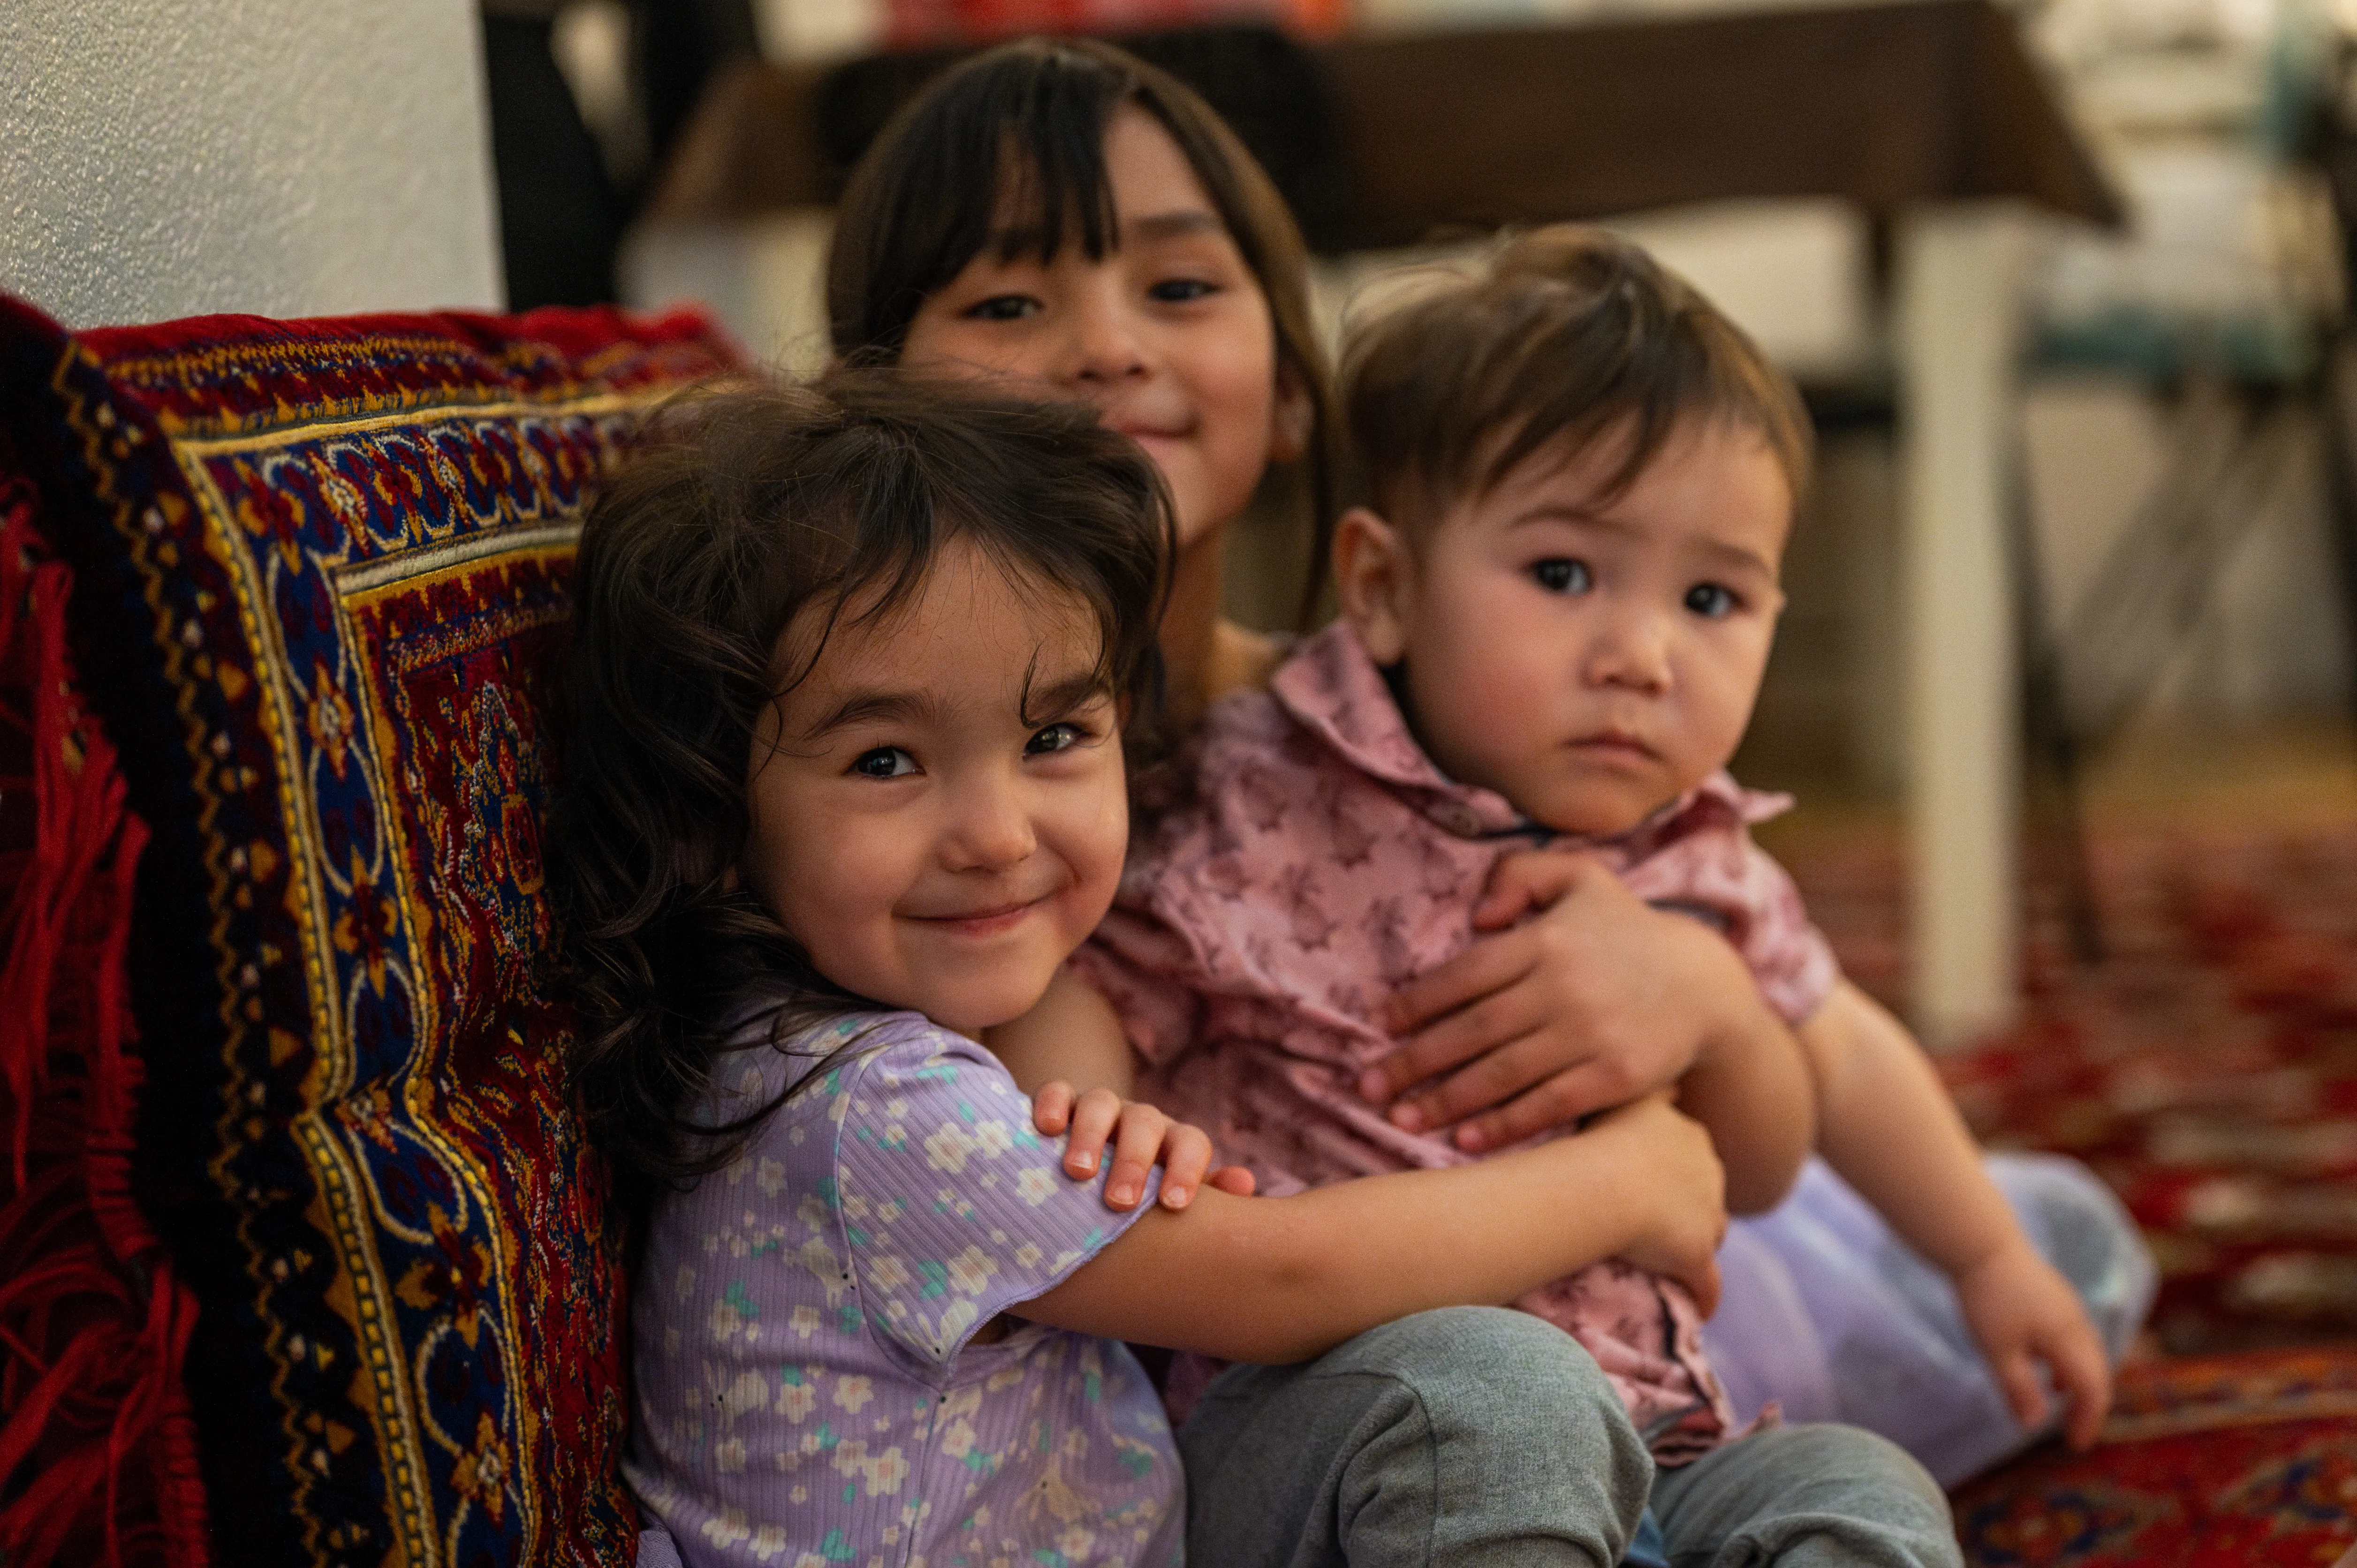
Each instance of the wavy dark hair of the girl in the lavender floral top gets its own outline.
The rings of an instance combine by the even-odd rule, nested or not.
[[[658,417],[589,509],[554,698],[549,879],[582,1009],[575,1082],[625,1172],[714,1170],[768,1113],[712,1127],[702,1103],[747,1007],[778,1002],[783,1040],[863,1004],[735,875],[754,731],[825,632],[907,604],[952,540],[1080,599],[1105,689],[1131,729],[1150,722],[1169,500],[1089,408],[877,370],[702,394]],[[820,639],[780,667],[804,611]]]

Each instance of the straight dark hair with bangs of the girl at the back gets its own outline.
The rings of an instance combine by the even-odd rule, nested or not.
[[[827,328],[844,361],[893,363],[917,309],[985,245],[1009,259],[1035,245],[1054,262],[1077,243],[1094,262],[1120,243],[1105,130],[1138,108],[1169,132],[1221,224],[1261,283],[1277,337],[1277,375],[1310,406],[1310,601],[1334,531],[1334,389],[1308,299],[1308,250],[1261,165],[1178,78],[1087,38],[988,50],[936,78],[860,158],[834,215]],[[1018,191],[1037,224],[1004,229]]]

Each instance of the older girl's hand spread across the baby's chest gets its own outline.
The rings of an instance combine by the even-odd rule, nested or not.
[[[1391,1120],[1424,1132],[1473,1118],[1454,1137],[1468,1153],[1662,1089],[1730,1019],[1761,1009],[1716,931],[1645,905],[1586,854],[1504,856],[1473,929],[1494,936],[1393,995],[1402,1045],[1358,1085],[1384,1103],[1459,1068],[1398,1099]]]

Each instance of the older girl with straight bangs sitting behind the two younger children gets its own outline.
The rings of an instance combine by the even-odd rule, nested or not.
[[[1310,582],[1322,580],[1332,391],[1301,236],[1197,94],[1101,42],[1032,40],[966,61],[853,172],[827,299],[841,358],[1006,380],[1087,401],[1134,434],[1178,509],[1162,618],[1174,733],[1266,684],[1285,641],[1221,618],[1226,533],[1273,465],[1301,462]],[[1494,1151],[1671,1085],[1702,1056],[1796,1049],[1716,931],[1645,905],[1603,863],[1523,851],[1494,875],[1558,896],[1391,997],[1398,1047],[1358,1092],[1400,1132]],[[1110,1035],[1103,1004],[1072,979],[1025,1026]],[[1101,1082],[1131,1082],[1127,1056],[1096,1066]],[[1992,1158],[1989,1170],[2041,1252],[2093,1280],[2081,1287],[2117,1358],[2152,1294],[2117,1203],[2062,1160]],[[2034,1436],[2036,1422],[2013,1412],[2036,1401],[2001,1391],[1968,1344],[1959,1351],[1954,1292],[1926,1285],[1930,1269],[1822,1162],[1798,1198],[1739,1221],[1721,1261],[1730,1311],[1711,1346],[1739,1408],[1780,1401],[1803,1419],[1864,1424],[1945,1481]],[[1822,1290],[1841,1294],[1838,1280],[1860,1287],[1810,1323],[1791,1313],[1803,1278],[1813,1311],[1827,1306]],[[1893,1304],[1904,1320],[1886,1320]],[[1864,1342],[1871,1363],[1850,1356]],[[1895,1396],[1942,1379],[1985,1386],[1940,1410]]]

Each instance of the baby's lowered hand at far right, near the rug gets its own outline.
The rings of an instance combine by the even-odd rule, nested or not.
[[[2025,1236],[1956,1276],[1963,1320],[1996,1372],[2013,1419],[2032,1431],[2046,1422],[2046,1394],[2034,1361],[2044,1361],[2062,1391],[2062,1436],[2086,1448],[2112,1408],[2112,1370],[2095,1327],[2069,1283],[2039,1257]]]

